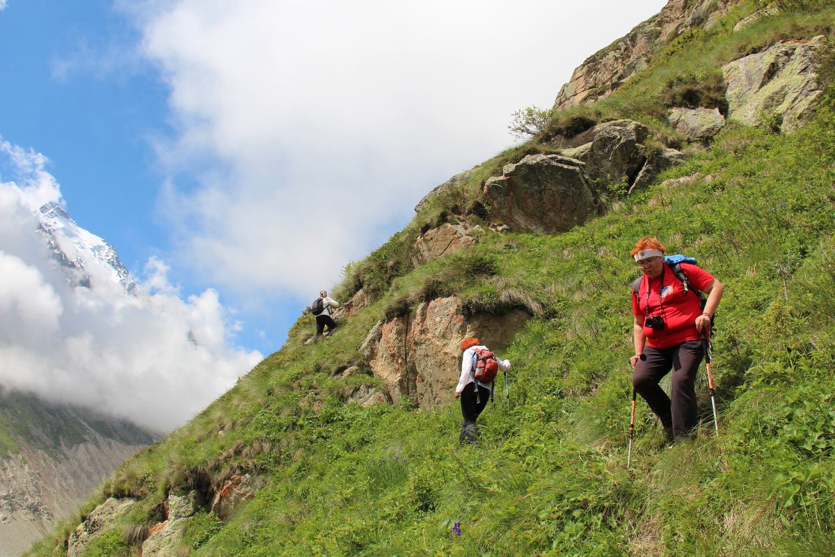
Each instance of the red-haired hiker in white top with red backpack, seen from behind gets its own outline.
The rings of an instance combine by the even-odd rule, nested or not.
[[[493,378],[499,370],[507,372],[510,362],[499,360],[488,347],[478,341],[478,338],[463,339],[461,350],[461,377],[458,379],[458,387],[455,387],[455,397],[461,398],[464,421],[458,443],[463,443],[466,439],[469,443],[475,444],[478,437],[475,421],[493,394]],[[483,381],[478,377],[483,377]]]

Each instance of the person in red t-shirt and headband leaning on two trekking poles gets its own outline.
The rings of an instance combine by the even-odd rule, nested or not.
[[[711,327],[725,287],[686,262],[690,258],[678,264],[665,261],[664,251],[650,236],[631,251],[643,276],[632,289],[635,356],[630,364],[635,392],[660,418],[667,435],[678,441],[696,427],[696,372],[704,357],[701,335]],[[700,291],[708,295],[704,302]],[[672,399],[658,384],[670,370]]]

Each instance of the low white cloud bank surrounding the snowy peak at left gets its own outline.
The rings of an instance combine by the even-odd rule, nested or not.
[[[0,153],[15,178],[0,183],[0,384],[165,431],[261,360],[230,346],[236,324],[217,291],[181,299],[164,261],[149,261],[136,296],[104,272],[70,286],[33,214],[61,200],[46,159],[8,143]]]

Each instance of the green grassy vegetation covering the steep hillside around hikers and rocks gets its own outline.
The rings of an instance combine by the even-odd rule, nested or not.
[[[182,554],[194,555],[827,555],[835,548],[835,63],[820,57],[817,115],[794,134],[729,124],[686,165],[561,235],[485,231],[477,246],[414,267],[427,226],[456,213],[489,219],[482,180],[578,118],[629,117],[675,141],[663,119],[682,84],[710,99],[717,68],[780,38],[832,35],[835,8],[784,2],[741,32],[686,33],[650,68],[595,104],[553,114],[546,129],[473,169],[364,261],[334,296],[360,287],[372,306],[312,346],[303,315],[286,345],[185,427],[125,463],[82,509],[139,504],[84,552],[135,554],[168,494],[207,493],[232,473],[261,481],[230,519],[200,511]],[[751,12],[755,3],[738,11]],[[734,14],[738,20],[739,12]],[[674,79],[675,76],[693,76]],[[700,77],[701,76],[701,77]],[[665,100],[666,99],[666,100]],[[708,103],[710,104],[710,103]],[[485,230],[488,227],[484,226]],[[629,251],[657,235],[696,256],[726,286],[714,337],[719,433],[706,380],[702,424],[668,446],[639,401],[626,468],[632,354]],[[533,315],[502,352],[509,388],[479,418],[481,442],[458,447],[460,411],[346,403],[371,376],[334,371],[385,316],[455,294],[464,311]],[[450,389],[453,385],[450,385]],[[506,394],[509,392],[509,396]],[[452,534],[455,522],[460,535]],[[32,555],[65,554],[78,517]]]

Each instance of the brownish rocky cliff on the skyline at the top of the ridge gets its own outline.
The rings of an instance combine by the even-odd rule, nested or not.
[[[624,38],[587,58],[559,90],[555,109],[602,99],[643,71],[655,50],[676,35],[696,27],[711,28],[740,0],[671,0],[654,18],[640,23]]]

